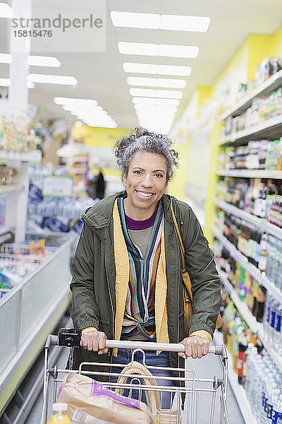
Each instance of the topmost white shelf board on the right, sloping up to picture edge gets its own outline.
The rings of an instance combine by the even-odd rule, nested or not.
[[[263,95],[268,95],[272,93],[272,91],[277,90],[277,88],[282,86],[282,70],[275,73],[273,76],[271,76],[268,80],[266,80],[261,86],[256,88],[250,95],[245,96],[243,99],[241,99],[234,107],[231,109],[226,110],[221,116],[219,117],[219,121],[224,121],[224,119],[232,116],[238,116],[245,112],[251,105],[252,100],[254,100],[257,97],[261,97]]]

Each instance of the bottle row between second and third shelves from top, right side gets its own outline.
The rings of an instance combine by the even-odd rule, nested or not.
[[[227,147],[218,156],[219,169],[281,170],[282,137],[278,140],[254,140],[247,146]]]

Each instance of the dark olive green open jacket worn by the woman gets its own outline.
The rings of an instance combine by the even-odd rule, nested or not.
[[[94,326],[104,331],[107,338],[114,338],[116,313],[112,211],[115,199],[124,195],[125,192],[121,192],[109,196],[83,213],[84,226],[71,266],[73,324],[81,330]],[[171,199],[185,246],[185,265],[192,281],[195,314],[189,320],[189,334],[202,329],[214,334],[221,294],[214,254],[195,214],[188,204],[164,194],[168,336],[171,343],[178,343],[184,338],[184,310],[180,245],[170,209]],[[98,356],[82,348],[75,349],[74,368],[82,360],[110,362],[111,355]],[[171,366],[179,365],[178,355],[172,354]]]

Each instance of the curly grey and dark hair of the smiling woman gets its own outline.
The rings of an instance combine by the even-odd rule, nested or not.
[[[178,166],[178,153],[171,148],[172,141],[167,136],[149,132],[142,126],[137,126],[129,134],[114,143],[114,155],[123,175],[128,175],[130,160],[137,151],[157,153],[166,159],[166,181],[173,177],[173,165]]]

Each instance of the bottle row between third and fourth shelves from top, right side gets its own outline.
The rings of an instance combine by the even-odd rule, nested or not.
[[[218,199],[282,228],[282,183],[279,180],[225,177],[219,179],[216,190]]]

